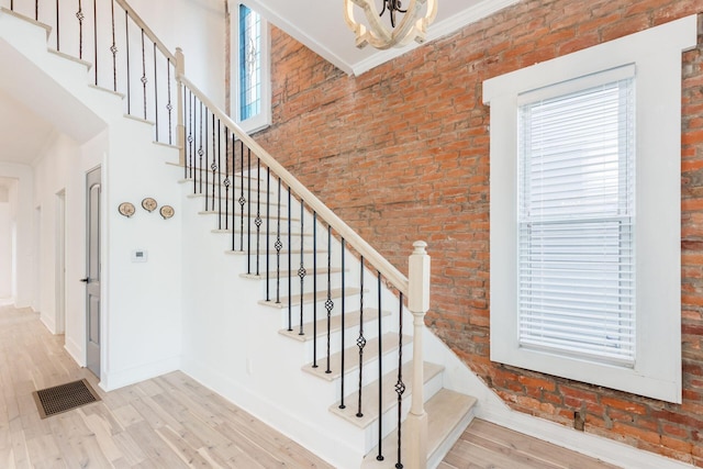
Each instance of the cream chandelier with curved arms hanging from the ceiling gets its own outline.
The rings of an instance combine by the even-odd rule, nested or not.
[[[379,13],[376,4],[382,2]],[[366,13],[368,26],[354,18],[354,5]],[[389,29],[381,16],[390,16]],[[402,16],[399,20],[399,16]],[[344,19],[356,34],[356,46],[371,45],[378,49],[403,47],[412,41],[423,43],[429,25],[437,16],[437,0],[344,0]]]

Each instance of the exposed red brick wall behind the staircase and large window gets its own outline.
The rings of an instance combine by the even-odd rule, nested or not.
[[[702,12],[692,0],[525,0],[360,77],[274,29],[274,125],[258,141],[401,270],[412,242],[428,242],[428,326],[512,407],[565,425],[579,411],[589,433],[703,467],[703,47],[682,59],[682,405],[489,360],[481,100],[487,78]]]

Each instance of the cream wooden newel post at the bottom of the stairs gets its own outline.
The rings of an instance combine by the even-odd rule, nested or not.
[[[413,314],[413,397],[408,414],[406,467],[425,469],[427,467],[427,414],[423,397],[423,350],[422,335],[425,327],[425,313],[429,310],[429,256],[425,250],[427,243],[413,243],[413,254],[408,266],[408,306]]]

